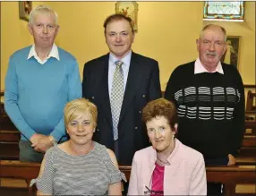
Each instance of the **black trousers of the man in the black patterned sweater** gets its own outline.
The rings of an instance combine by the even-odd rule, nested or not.
[[[228,158],[205,158],[205,166],[227,166]],[[207,183],[207,195],[224,195],[222,183]]]

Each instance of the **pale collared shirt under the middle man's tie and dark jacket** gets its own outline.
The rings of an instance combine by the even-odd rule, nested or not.
[[[112,82],[114,78],[114,73],[115,73],[115,67],[116,61],[122,61],[124,64],[122,65],[123,72],[124,72],[124,91],[127,83],[127,78],[128,78],[128,73],[129,73],[129,68],[130,68],[130,63],[131,63],[131,57],[132,57],[132,50],[124,56],[122,59],[117,59],[115,55],[112,55],[109,53],[109,60],[108,60],[108,92],[109,92],[109,98],[111,98],[111,90],[112,90]]]

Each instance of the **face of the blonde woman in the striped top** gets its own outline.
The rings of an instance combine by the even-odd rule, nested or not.
[[[93,132],[95,132],[95,122],[90,113],[86,112],[69,122],[66,131],[71,141],[84,145],[92,139]]]

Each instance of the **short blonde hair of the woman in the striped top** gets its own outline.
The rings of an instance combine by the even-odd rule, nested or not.
[[[92,123],[97,126],[97,107],[88,99],[78,98],[66,104],[64,107],[64,124],[67,126],[74,119],[79,118],[84,113],[90,113],[92,116]]]

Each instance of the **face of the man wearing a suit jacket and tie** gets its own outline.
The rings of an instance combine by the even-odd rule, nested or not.
[[[131,50],[134,34],[128,21],[111,21],[107,24],[105,38],[110,52],[121,59]]]

